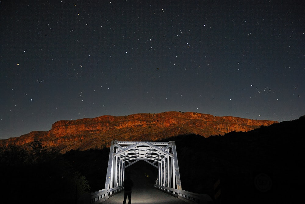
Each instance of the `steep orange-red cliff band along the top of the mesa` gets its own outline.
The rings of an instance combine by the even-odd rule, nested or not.
[[[202,113],[165,112],[158,114],[134,114],[129,116],[100,116],[80,120],[61,120],[52,125],[48,135],[62,137],[64,135],[80,134],[82,131],[106,132],[126,127],[170,127],[187,126],[205,129],[212,128],[218,134],[231,131],[249,131],[261,125],[269,126],[276,121],[250,120],[232,116],[212,116]],[[201,132],[203,136],[210,134]]]

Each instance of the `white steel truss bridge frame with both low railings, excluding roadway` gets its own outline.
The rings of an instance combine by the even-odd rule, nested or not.
[[[175,141],[112,141],[105,189],[91,193],[91,203],[100,203],[121,191],[128,166],[144,160],[158,170],[155,188],[198,203],[211,201],[206,194],[182,190]]]

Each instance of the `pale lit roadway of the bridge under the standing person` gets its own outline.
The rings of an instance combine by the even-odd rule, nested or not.
[[[124,199],[124,191],[107,199],[105,204],[122,204]],[[128,198],[126,203],[128,203]],[[135,188],[131,194],[132,204],[186,204],[181,199],[164,193],[156,188]]]

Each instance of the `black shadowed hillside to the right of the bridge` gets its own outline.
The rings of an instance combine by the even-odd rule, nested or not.
[[[168,138],[176,141],[182,188],[212,197],[219,179],[223,203],[293,203],[305,192],[304,126],[303,116],[249,132]],[[260,186],[258,175],[272,184]]]

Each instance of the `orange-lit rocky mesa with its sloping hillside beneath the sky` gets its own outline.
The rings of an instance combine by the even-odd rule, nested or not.
[[[231,131],[250,131],[277,121],[250,120],[232,116],[212,116],[203,113],[164,112],[140,113],[128,116],[100,116],[79,120],[60,120],[49,131],[33,131],[16,138],[0,140],[0,147],[27,146],[41,141],[46,147],[62,152],[109,146],[110,141],[154,141],[181,134],[203,137],[223,135]]]

